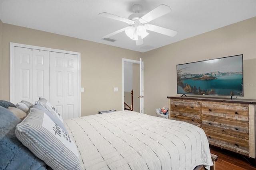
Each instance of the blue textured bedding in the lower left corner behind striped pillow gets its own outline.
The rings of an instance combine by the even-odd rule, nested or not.
[[[16,138],[14,131],[20,122],[0,106],[0,170],[46,170],[46,164]]]

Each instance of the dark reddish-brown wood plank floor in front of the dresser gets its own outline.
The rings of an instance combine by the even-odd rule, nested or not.
[[[218,156],[216,170],[256,170],[256,167],[251,166],[246,157],[240,154],[214,146],[210,146],[210,150],[212,154]]]

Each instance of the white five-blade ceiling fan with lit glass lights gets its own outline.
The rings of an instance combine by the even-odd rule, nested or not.
[[[173,37],[177,34],[177,31],[148,23],[160,16],[163,16],[171,12],[172,10],[169,6],[161,4],[160,6],[156,7],[154,10],[148,12],[145,15],[140,13],[141,9],[142,6],[140,4],[133,5],[132,10],[134,14],[130,15],[128,19],[113,14],[109,14],[107,12],[100,13],[100,16],[122,21],[128,23],[129,25],[128,27],[119,29],[118,31],[105,35],[102,38],[105,39],[111,37],[112,35],[116,35],[122,31],[125,31],[126,35],[130,37],[130,39],[136,40],[136,45],[142,45],[143,39],[149,34],[146,30],[168,35],[170,37]]]

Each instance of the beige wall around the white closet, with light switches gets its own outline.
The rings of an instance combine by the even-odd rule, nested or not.
[[[0,23],[0,100],[9,101],[9,43],[81,53],[81,115],[122,109],[122,58],[139,60],[141,53],[35,29]],[[118,87],[118,92],[114,92]]]

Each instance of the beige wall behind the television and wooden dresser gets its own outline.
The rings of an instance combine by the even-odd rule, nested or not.
[[[176,93],[176,64],[244,55],[244,99],[256,99],[256,17],[143,53],[144,113],[168,106]]]

